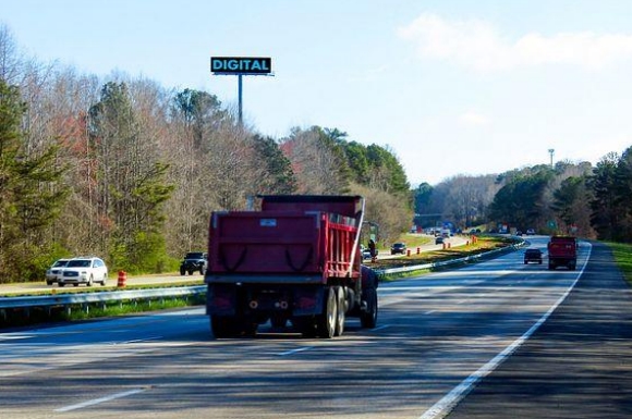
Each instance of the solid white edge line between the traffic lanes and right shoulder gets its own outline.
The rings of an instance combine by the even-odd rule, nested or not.
[[[518,349],[522,344],[524,344],[535,333],[536,330],[539,329],[539,326],[549,318],[549,316],[558,308],[558,306],[562,304],[564,299],[567,299],[567,297],[569,296],[571,291],[575,287],[575,284],[584,273],[584,269],[586,269],[586,266],[588,264],[588,259],[591,259],[591,252],[593,250],[593,245],[591,245],[590,243],[588,245],[591,247],[588,248],[588,255],[586,257],[584,266],[582,267],[582,270],[573,281],[571,286],[569,286],[566,293],[548,309],[548,311],[545,312],[543,317],[540,317],[539,320],[534,325],[531,326],[530,330],[524,332],[522,336],[513,341],[511,345],[506,347],[500,354],[496,355],[491,360],[489,360],[487,363],[481,367],[477,371],[473,372],[465,380],[461,381],[459,385],[452,389],[452,391],[446,394],[439,402],[435,403],[433,407],[426,410],[424,415],[420,416],[418,419],[440,419],[448,416],[448,414],[450,414],[450,411],[459,404],[459,402],[465,398],[467,393],[470,393],[472,389],[474,389],[474,385],[478,381],[481,381],[483,378],[493,372],[500,363],[502,363],[507,358],[509,358],[511,354],[515,352],[515,349]]]

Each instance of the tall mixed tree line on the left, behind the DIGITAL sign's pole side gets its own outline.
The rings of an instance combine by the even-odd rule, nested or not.
[[[207,91],[40,63],[0,25],[0,282],[37,281],[60,257],[172,270],[207,246],[210,212],[259,194],[357,194],[390,241],[410,184],[387,147],[338,128],[272,138]]]

